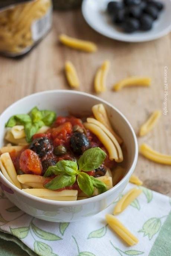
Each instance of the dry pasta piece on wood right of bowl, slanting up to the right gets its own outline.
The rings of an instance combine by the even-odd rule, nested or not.
[[[159,117],[161,117],[161,111],[156,110],[154,111],[148,120],[140,127],[139,136],[146,135],[149,131],[153,129],[155,124],[157,123]]]

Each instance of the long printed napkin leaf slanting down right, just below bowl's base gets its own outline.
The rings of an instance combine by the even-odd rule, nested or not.
[[[32,225],[32,229],[34,231],[34,233],[36,234],[36,236],[44,239],[44,240],[48,240],[48,241],[55,241],[55,240],[61,240],[62,238],[55,235],[55,234],[52,234],[52,233],[49,233],[47,231],[44,231],[38,227],[36,227],[33,223],[31,224]]]

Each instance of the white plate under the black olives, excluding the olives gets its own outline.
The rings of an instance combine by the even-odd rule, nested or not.
[[[159,18],[154,22],[153,28],[146,32],[126,34],[118,29],[106,12],[110,0],[83,0],[82,13],[87,23],[106,37],[125,42],[144,42],[157,39],[171,31],[171,0],[162,0],[165,7],[159,13]]]

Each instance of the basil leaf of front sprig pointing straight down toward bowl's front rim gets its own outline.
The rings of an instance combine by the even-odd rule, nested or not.
[[[87,173],[79,173],[77,182],[80,189],[88,196],[92,196],[94,192],[93,181]]]

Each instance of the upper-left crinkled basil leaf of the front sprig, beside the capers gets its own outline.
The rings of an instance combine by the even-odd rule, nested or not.
[[[50,166],[46,170],[44,177],[48,177],[52,174],[68,174],[69,176],[76,175],[78,173],[78,165],[75,161],[60,160],[55,166]]]

